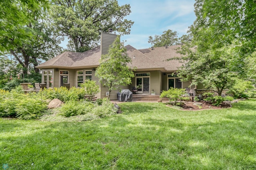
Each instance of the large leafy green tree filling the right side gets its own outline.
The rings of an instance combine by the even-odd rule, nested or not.
[[[181,47],[184,64],[178,75],[192,79],[194,84],[203,83],[221,95],[233,78],[250,77],[249,58],[256,47],[252,44],[256,40],[252,18],[255,1],[196,0],[194,6],[197,18],[190,26],[193,38]]]

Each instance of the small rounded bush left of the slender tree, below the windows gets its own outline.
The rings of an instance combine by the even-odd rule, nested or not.
[[[85,80],[84,83],[81,84],[81,87],[85,89],[85,95],[88,97],[89,101],[92,101],[92,97],[100,92],[100,87],[96,85],[96,81]]]

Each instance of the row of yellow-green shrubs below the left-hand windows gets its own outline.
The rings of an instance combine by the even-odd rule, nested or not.
[[[44,89],[41,91],[47,99],[59,99],[62,102],[78,101],[84,99],[86,91],[84,88],[71,87],[68,90],[66,87],[54,87],[53,89]]]

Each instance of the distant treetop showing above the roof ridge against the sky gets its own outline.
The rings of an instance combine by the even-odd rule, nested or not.
[[[175,45],[178,43],[178,33],[176,31],[167,30],[162,35],[155,35],[154,38],[149,36],[148,43],[154,47],[163,47],[165,45]]]

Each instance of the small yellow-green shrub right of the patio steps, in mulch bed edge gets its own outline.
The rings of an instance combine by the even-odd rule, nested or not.
[[[174,105],[177,105],[177,101],[182,99],[182,95],[185,95],[185,89],[177,89],[170,87],[168,91],[164,91],[161,93],[160,97],[167,97],[170,101],[174,101]]]

